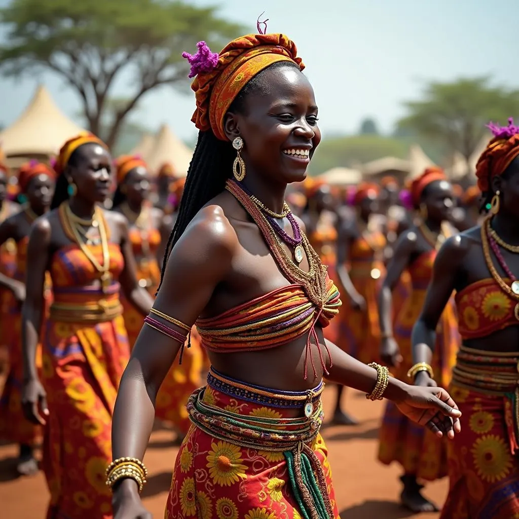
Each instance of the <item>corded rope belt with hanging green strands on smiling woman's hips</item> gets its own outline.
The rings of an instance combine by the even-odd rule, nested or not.
[[[212,369],[211,381],[218,380],[214,374],[215,371]],[[229,380],[236,382],[222,375],[220,377],[226,382]],[[229,387],[234,386],[229,384]],[[323,421],[324,413],[320,398],[317,406],[314,407],[313,397],[309,398],[309,394],[315,395],[313,391],[278,394],[278,391],[274,392],[267,388],[251,386],[247,389],[247,386],[243,385],[243,391],[249,397],[255,394],[266,398],[267,393],[270,393],[272,402],[281,403],[281,401],[288,401],[286,397],[290,394],[299,398],[299,406],[304,405],[305,413],[302,417],[266,418],[242,416],[210,405],[203,401],[205,389],[196,390],[187,402],[187,412],[193,424],[213,438],[229,441],[240,447],[282,452],[286,460],[291,488],[303,515],[312,519],[333,519],[333,508],[321,462],[308,445],[316,439]]]

